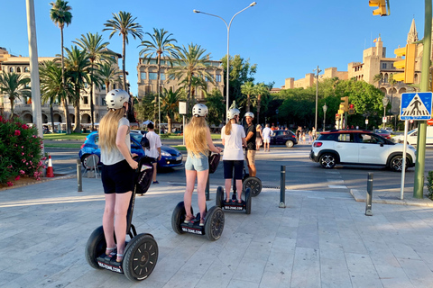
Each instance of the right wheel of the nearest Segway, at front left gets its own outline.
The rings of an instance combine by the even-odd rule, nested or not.
[[[151,234],[139,234],[128,244],[122,264],[124,275],[142,281],[151,275],[158,261],[158,244]]]

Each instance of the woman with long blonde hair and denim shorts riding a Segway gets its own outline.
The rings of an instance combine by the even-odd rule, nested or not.
[[[185,175],[187,186],[183,195],[185,205],[185,223],[194,221],[191,214],[192,193],[197,178],[198,209],[200,211],[200,226],[205,225],[206,217],[206,184],[209,175],[209,150],[220,153],[223,149],[215,147],[210,136],[210,130],[206,122],[207,106],[205,104],[195,104],[192,108],[192,119],[185,126],[185,146],[188,151],[187,161],[185,162]]]

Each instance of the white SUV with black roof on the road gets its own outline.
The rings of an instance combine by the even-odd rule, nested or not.
[[[415,166],[416,150],[408,146],[406,168]],[[336,164],[389,166],[401,171],[403,145],[393,143],[368,130],[330,130],[313,142],[309,157],[324,168]]]

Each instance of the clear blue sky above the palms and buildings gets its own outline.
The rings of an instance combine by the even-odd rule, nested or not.
[[[290,1],[258,0],[235,17],[230,29],[230,55],[240,54],[257,64],[256,82],[274,81],[275,87],[284,79],[299,79],[319,66],[347,70],[349,62],[362,61],[363,49],[373,46],[381,34],[387,57],[406,44],[412,18],[415,18],[419,39],[424,33],[424,1],[390,0],[391,15],[373,16],[368,0]],[[60,54],[60,29],[50,19],[50,2],[34,0],[38,52],[40,57]],[[69,0],[72,23],[64,31],[65,47],[88,32],[102,33],[109,48],[122,53],[122,40],[109,31],[102,32],[106,20],[119,11],[137,17],[143,31],[164,28],[173,33],[179,45],[197,43],[211,53],[212,59],[226,55],[226,25],[220,19],[194,14],[197,9],[217,14],[228,23],[232,16],[251,4],[250,0]],[[409,4],[410,3],[410,4]],[[27,57],[28,39],[25,1],[3,0],[0,17],[0,47],[14,55]],[[148,36],[145,36],[148,37]],[[137,93],[138,54],[140,40],[130,38],[126,49],[126,69],[131,92]],[[121,65],[121,63],[119,63]]]

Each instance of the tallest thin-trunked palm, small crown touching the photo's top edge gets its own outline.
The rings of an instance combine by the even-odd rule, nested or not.
[[[50,10],[50,18],[51,21],[56,24],[60,28],[60,39],[61,39],[61,71],[62,71],[62,82],[63,86],[66,85],[65,80],[65,66],[64,66],[64,57],[63,57],[63,28],[65,25],[68,27],[69,24],[72,22],[72,14],[70,13],[70,10],[72,8],[68,5],[68,1],[63,0],[56,0],[56,2],[51,2],[51,10]],[[65,87],[66,90],[66,87]],[[69,110],[68,110],[68,97],[64,96],[62,97],[63,101],[63,109],[66,112],[66,126],[67,126],[67,133],[71,133],[71,125],[70,125],[70,117],[69,117]]]

